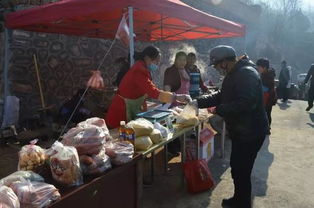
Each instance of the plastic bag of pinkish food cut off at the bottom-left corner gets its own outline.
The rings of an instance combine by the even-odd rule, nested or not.
[[[20,208],[20,202],[13,190],[7,186],[0,185],[0,207]]]

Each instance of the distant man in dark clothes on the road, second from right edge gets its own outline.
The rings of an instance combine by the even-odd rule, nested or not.
[[[286,102],[289,98],[288,83],[289,83],[290,79],[291,79],[291,77],[290,77],[289,69],[287,67],[287,62],[282,61],[281,62],[281,71],[279,74],[279,86],[278,86],[278,88],[280,90],[280,94],[281,94],[283,102]]]

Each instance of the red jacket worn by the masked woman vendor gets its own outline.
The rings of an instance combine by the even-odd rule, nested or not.
[[[150,98],[157,99],[159,93],[160,90],[152,82],[145,63],[137,61],[121,80],[117,95],[113,98],[105,118],[107,126],[117,128],[120,126],[120,121],[126,121],[126,106],[120,96],[137,99],[146,94]]]

